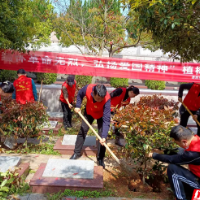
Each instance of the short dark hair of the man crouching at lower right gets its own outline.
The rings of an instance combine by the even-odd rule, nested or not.
[[[176,141],[181,141],[183,139],[189,140],[193,136],[193,132],[181,125],[174,126],[170,132],[170,137]]]

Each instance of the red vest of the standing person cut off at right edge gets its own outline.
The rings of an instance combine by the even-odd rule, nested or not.
[[[189,110],[197,111],[200,108],[200,84],[194,83],[186,95],[183,103]]]

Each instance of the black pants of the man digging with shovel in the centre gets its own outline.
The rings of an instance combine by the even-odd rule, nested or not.
[[[91,115],[88,115],[86,111],[84,112],[84,116],[90,124],[93,123],[94,118]],[[102,136],[103,119],[102,118],[97,119],[97,124],[98,124],[98,133],[100,136]],[[74,153],[81,155],[81,150],[85,142],[85,138],[86,138],[88,130],[89,130],[89,126],[84,121],[82,121],[80,131],[76,138]],[[98,148],[97,160],[101,160],[105,157],[106,148],[100,144],[99,140],[97,142],[97,148]]]

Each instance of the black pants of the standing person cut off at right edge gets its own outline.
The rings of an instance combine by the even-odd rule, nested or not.
[[[195,111],[191,111],[192,114],[195,114]],[[183,105],[181,105],[180,107],[180,116],[181,116],[181,121],[180,121],[180,125],[186,127],[187,123],[188,123],[188,119],[190,117],[190,113],[184,108]],[[197,120],[200,122],[200,115],[198,115]],[[200,136],[200,127],[197,124],[197,135]]]

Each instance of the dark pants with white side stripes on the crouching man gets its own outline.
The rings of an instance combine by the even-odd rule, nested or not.
[[[177,200],[191,200],[194,189],[199,189],[199,178],[180,165],[170,164],[167,175]]]

